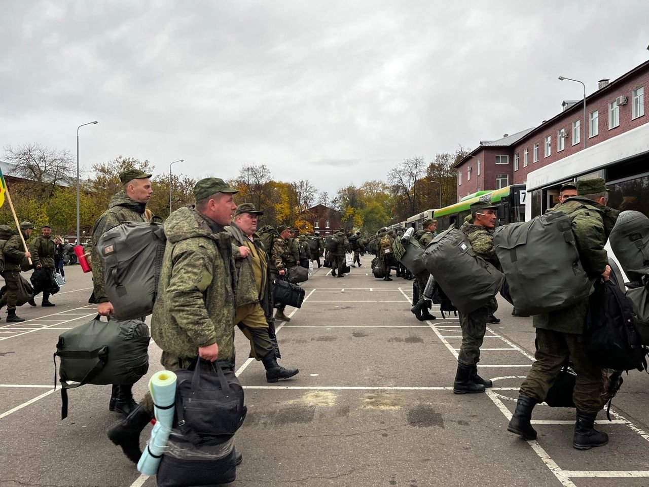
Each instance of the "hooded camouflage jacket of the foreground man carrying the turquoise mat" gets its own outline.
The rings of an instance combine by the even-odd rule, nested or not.
[[[194,358],[199,347],[217,343],[219,361],[234,362],[236,268],[232,236],[214,233],[214,224],[193,205],[173,212],[167,236],[151,338],[167,353]]]

